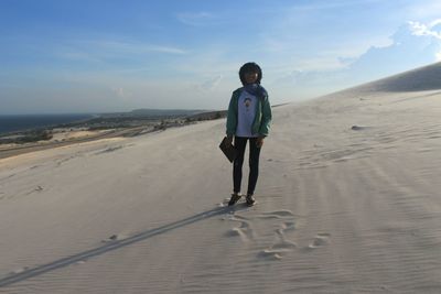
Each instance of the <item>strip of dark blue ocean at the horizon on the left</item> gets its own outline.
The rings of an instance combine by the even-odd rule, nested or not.
[[[20,115],[0,116],[0,134],[53,127],[93,118],[94,115]]]

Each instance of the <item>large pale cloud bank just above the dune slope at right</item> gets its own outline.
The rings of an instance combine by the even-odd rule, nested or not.
[[[333,55],[326,52],[316,58],[304,58],[295,63],[295,68],[303,70],[283,68],[284,74],[275,75],[273,86],[299,97],[313,97],[441,62],[440,24],[440,19],[408,22],[391,35],[388,45],[370,46],[358,56],[341,52],[338,62],[326,58]]]

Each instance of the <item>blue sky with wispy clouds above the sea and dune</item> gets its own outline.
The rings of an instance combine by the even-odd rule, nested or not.
[[[0,0],[0,115],[272,104],[441,61],[441,1]]]

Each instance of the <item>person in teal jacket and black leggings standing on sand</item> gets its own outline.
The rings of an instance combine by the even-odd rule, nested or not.
[[[235,205],[241,197],[241,167],[245,148],[249,141],[249,177],[246,203],[255,204],[254,193],[259,176],[259,156],[263,139],[268,135],[272,119],[268,92],[260,86],[261,68],[256,63],[246,63],[239,69],[239,78],[244,87],[233,92],[229,101],[226,134],[227,144],[233,143],[238,155],[233,164],[233,194],[228,203]]]

